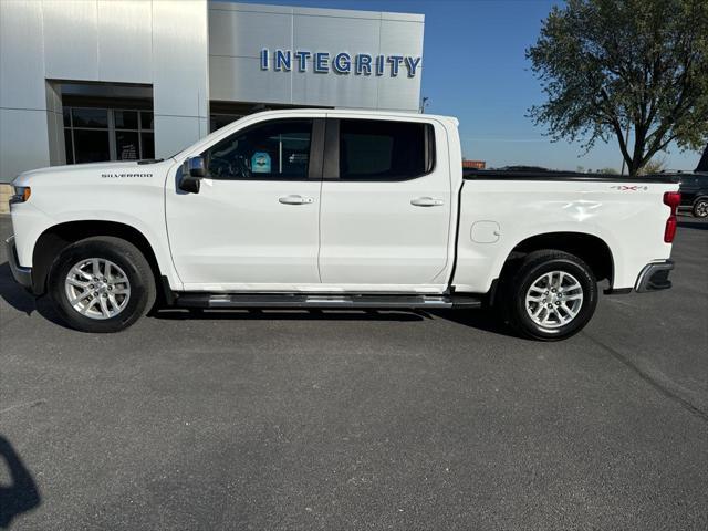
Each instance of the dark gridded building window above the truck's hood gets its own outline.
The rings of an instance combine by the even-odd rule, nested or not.
[[[153,113],[64,107],[66,164],[155,157]]]

